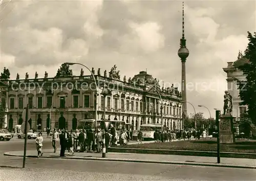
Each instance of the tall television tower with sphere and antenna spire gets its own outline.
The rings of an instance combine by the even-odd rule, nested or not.
[[[184,34],[184,2],[182,2],[182,38],[180,39],[180,49],[178,50],[178,56],[181,59],[181,96],[183,103],[184,116],[187,115],[187,97],[186,97],[186,59],[189,55],[189,51],[186,48],[186,39]]]

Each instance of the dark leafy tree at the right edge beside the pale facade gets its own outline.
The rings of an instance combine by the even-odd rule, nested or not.
[[[252,35],[248,32],[248,46],[245,50],[244,58],[248,59],[248,63],[240,65],[238,68],[243,71],[246,76],[245,81],[238,81],[239,95],[242,100],[240,105],[248,105],[248,117],[252,123],[256,123],[256,32]]]

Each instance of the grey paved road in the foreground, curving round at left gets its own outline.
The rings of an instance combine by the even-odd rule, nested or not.
[[[34,143],[28,140],[28,150],[35,150]],[[0,142],[0,165],[22,167],[22,157],[3,153],[21,150],[23,145],[19,139]],[[51,148],[50,139],[45,139],[44,147]],[[43,158],[27,158],[26,168],[0,168],[0,180],[24,180],[20,175],[28,180],[255,180],[256,176],[255,169]]]

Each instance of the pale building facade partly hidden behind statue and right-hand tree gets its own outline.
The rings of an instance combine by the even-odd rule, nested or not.
[[[246,105],[239,105],[241,99],[239,97],[239,85],[236,80],[245,81],[246,77],[243,75],[243,71],[239,70],[238,67],[244,63],[248,63],[248,59],[242,56],[239,53],[238,59],[234,62],[227,62],[227,67],[223,68],[224,72],[227,73],[227,90],[228,93],[232,96],[232,116],[235,117],[234,123],[238,123],[240,117],[247,111]],[[239,133],[238,124],[234,124],[236,132]]]

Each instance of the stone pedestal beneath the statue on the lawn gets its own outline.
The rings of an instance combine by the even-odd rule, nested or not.
[[[230,114],[222,115],[220,124],[220,143],[234,143],[233,117]]]

